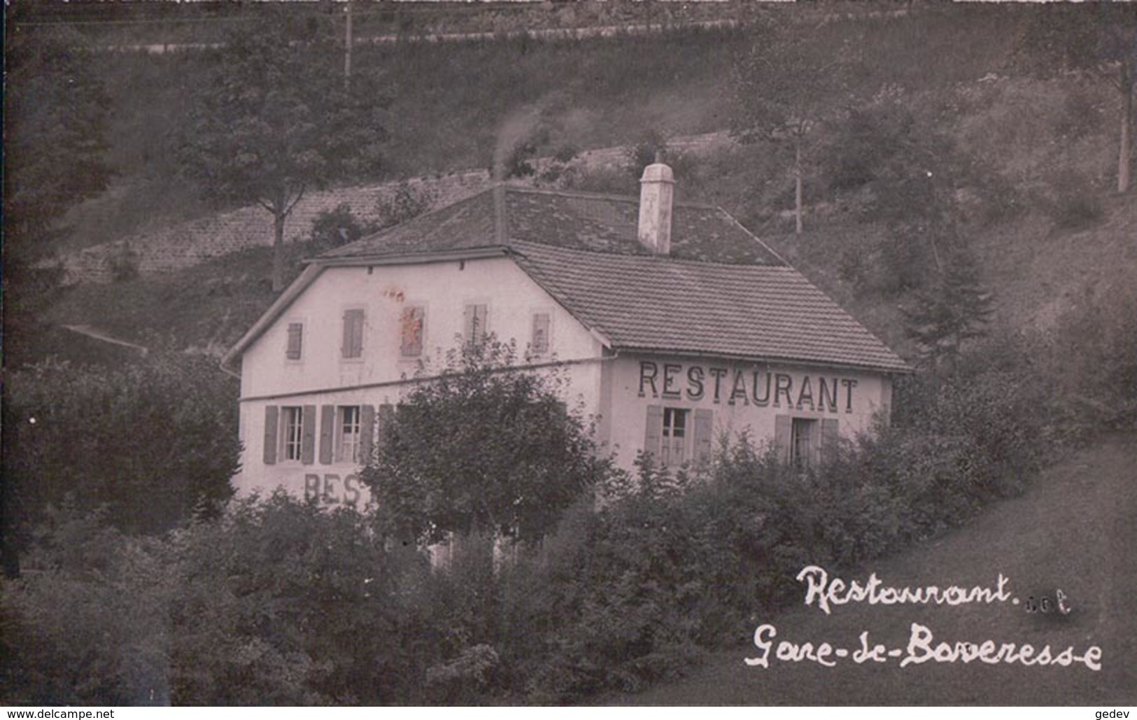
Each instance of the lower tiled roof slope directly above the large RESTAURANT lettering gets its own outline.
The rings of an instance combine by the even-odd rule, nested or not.
[[[616,348],[908,370],[789,266],[677,262],[537,243],[512,249],[546,291]]]

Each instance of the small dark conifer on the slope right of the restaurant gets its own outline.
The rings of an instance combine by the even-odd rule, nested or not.
[[[954,374],[964,342],[986,334],[993,301],[979,281],[974,258],[956,253],[947,259],[938,281],[904,311],[907,334],[933,371]]]

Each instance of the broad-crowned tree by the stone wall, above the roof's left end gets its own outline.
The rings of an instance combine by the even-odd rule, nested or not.
[[[273,216],[273,290],[284,288],[284,223],[310,188],[374,174],[387,133],[372,78],[345,88],[318,23],[242,25],[214,56],[182,138],[186,171],[215,199]]]

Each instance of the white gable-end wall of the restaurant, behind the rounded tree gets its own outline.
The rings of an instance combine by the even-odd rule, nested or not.
[[[565,400],[595,412],[600,395],[600,342],[556,304],[509,258],[484,258],[429,265],[385,265],[326,268],[244,353],[241,365],[242,471],[234,478],[241,494],[284,487],[302,496],[306,485],[321,494],[325,481],[332,500],[366,502],[365,489],[347,490],[356,467],[350,463],[312,465],[298,461],[265,465],[265,406],[382,405],[398,403],[417,372],[426,375],[445,366],[446,350],[456,347],[467,304],[489,306],[488,330],[501,340],[515,339],[524,351],[532,333],[533,313],[549,313],[550,355],[542,361],[586,361],[564,372],[570,381]],[[422,359],[400,353],[401,309],[425,308]],[[363,357],[341,357],[342,315],[348,308],[365,314]],[[285,359],[288,325],[304,323],[300,361]],[[372,386],[359,388],[358,386]],[[318,430],[318,425],[317,425]],[[316,475],[314,479],[312,475]]]

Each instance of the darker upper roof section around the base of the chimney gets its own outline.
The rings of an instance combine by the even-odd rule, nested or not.
[[[499,185],[322,256],[380,257],[514,242],[623,255],[649,254],[637,239],[639,201],[586,192]],[[781,265],[765,245],[720,208],[677,202],[671,257]]]

